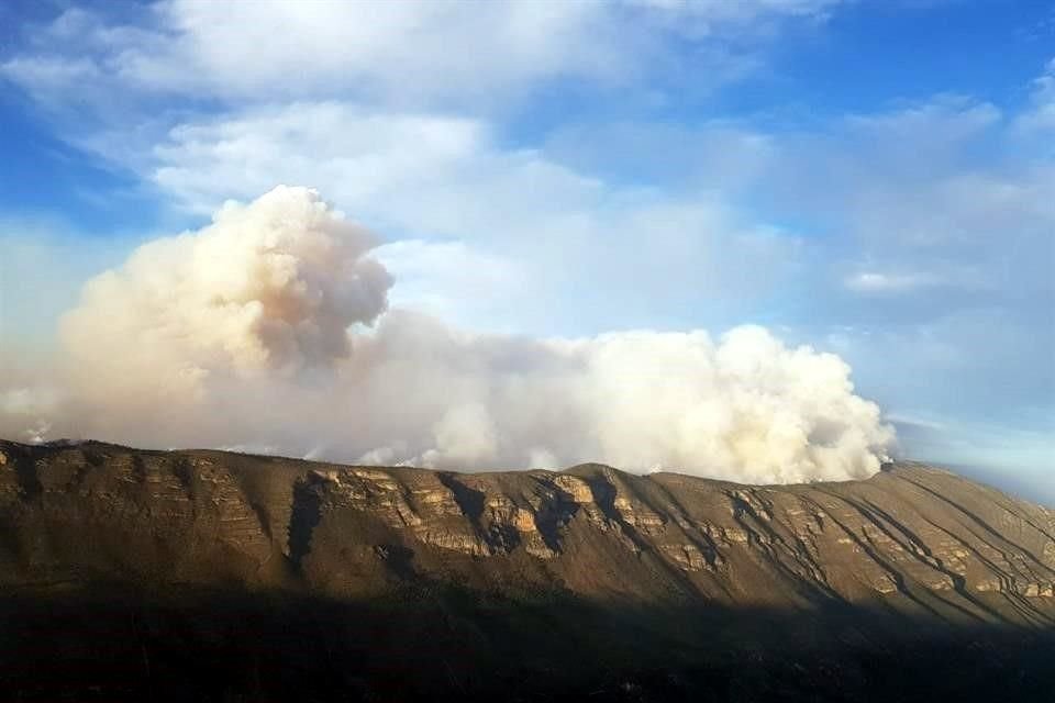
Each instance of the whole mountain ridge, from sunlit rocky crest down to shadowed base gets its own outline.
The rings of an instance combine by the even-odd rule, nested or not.
[[[1055,701],[1055,512],[0,442],[0,700]]]

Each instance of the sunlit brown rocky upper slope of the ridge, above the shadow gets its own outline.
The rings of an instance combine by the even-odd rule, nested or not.
[[[353,596],[453,580],[1055,622],[1055,512],[918,464],[756,488],[596,465],[462,475],[0,443],[0,587],[121,574]]]

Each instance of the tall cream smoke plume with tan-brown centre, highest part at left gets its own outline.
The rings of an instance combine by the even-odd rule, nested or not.
[[[302,188],[227,203],[199,232],[136,249],[63,320],[78,386],[103,397],[207,393],[214,372],[296,376],[348,355],[347,327],[386,308],[374,237]]]

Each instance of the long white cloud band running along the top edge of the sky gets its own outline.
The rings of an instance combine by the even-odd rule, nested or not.
[[[49,102],[120,87],[222,100],[493,103],[551,79],[640,80],[676,63],[664,42],[671,34],[698,45],[696,69],[709,54],[711,68],[738,72],[782,23],[823,20],[835,4],[163,0],[131,21],[68,10],[0,71]]]

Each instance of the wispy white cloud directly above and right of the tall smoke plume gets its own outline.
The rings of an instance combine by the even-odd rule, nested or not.
[[[121,144],[115,135],[93,148],[193,212],[276,181],[307,182],[397,242],[442,239],[387,249],[418,259],[390,260],[413,269],[400,302],[458,305],[459,320],[492,330],[510,327],[496,310],[528,280],[532,295],[513,305],[522,330],[570,330],[584,316],[595,330],[685,324],[693,301],[751,304],[801,248],[793,233],[749,222],[714,191],[607,182],[543,152],[503,147],[482,120],[293,103],[180,124],[145,154],[127,157]],[[496,272],[467,284],[446,272],[451,257],[487,259],[484,270]],[[622,284],[584,287],[599,280]]]

